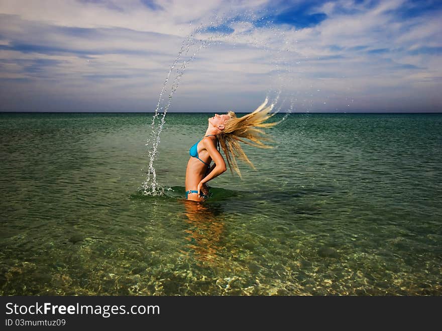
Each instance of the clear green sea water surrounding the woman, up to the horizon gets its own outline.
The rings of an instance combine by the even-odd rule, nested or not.
[[[441,114],[290,115],[185,202],[212,115],[167,115],[143,196],[152,114],[0,114],[0,294],[442,294]]]

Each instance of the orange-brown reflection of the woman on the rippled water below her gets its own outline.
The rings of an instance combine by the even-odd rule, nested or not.
[[[219,219],[220,210],[213,204],[183,200],[186,208],[186,223],[190,227],[185,230],[187,248],[193,251],[198,264],[214,264],[224,232],[224,222]],[[188,254],[188,253],[186,253]]]

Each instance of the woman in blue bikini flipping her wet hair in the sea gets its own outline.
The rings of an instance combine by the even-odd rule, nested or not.
[[[270,113],[273,104],[266,107],[267,102],[266,99],[256,111],[241,118],[237,118],[234,112],[229,112],[224,115],[215,114],[214,117],[208,119],[208,128],[204,137],[189,150],[190,159],[187,162],[185,184],[187,200],[206,200],[209,194],[206,183],[227,170],[226,162],[219,153],[219,146],[226,155],[230,170],[232,172],[235,170],[240,177],[241,172],[238,169],[236,156],[255,168],[239,142],[260,148],[271,148],[262,143],[271,139],[258,129],[273,127],[277,124],[277,122],[264,123],[274,115]],[[212,160],[214,164],[210,167]]]

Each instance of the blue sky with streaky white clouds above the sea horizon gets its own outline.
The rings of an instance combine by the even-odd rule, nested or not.
[[[442,2],[0,0],[0,111],[442,112]]]

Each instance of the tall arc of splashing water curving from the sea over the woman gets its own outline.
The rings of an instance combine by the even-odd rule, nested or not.
[[[165,117],[171,105],[173,94],[179,86],[180,78],[184,74],[188,64],[195,59],[195,56],[201,49],[206,48],[213,43],[222,43],[228,41],[230,44],[233,44],[233,47],[235,47],[236,43],[243,43],[253,45],[261,51],[270,53],[272,55],[271,65],[275,68],[277,75],[277,79],[272,85],[277,87],[270,87],[267,91],[266,97],[275,105],[278,103],[285,86],[292,83],[293,78],[290,75],[290,69],[287,70],[287,68],[290,68],[290,64],[287,65],[287,56],[290,54],[285,54],[288,52],[288,41],[286,40],[284,31],[281,31],[277,27],[273,26],[272,22],[268,22],[266,26],[272,31],[272,35],[270,38],[267,37],[267,39],[261,34],[251,33],[251,31],[247,31],[247,29],[242,32],[240,31],[239,33],[235,32],[233,34],[226,34],[218,31],[212,33],[211,35],[207,35],[208,27],[221,26],[222,24],[233,25],[235,23],[247,22],[247,20],[250,22],[257,21],[257,17],[254,13],[250,12],[247,15],[248,17],[243,17],[240,19],[238,19],[236,15],[214,16],[209,23],[206,25],[201,23],[183,40],[178,55],[169,68],[166,79],[160,91],[155,113],[152,118],[151,132],[145,143],[148,148],[149,164],[146,171],[146,180],[142,183],[142,191],[144,194],[160,195],[163,193],[164,188],[157,183],[157,176],[154,167],[154,162],[158,157],[158,145],[160,143],[161,131],[165,124]],[[236,22],[237,20],[240,22]],[[282,44],[275,46],[273,45],[274,40],[281,40]],[[288,75],[287,72],[289,73]],[[164,100],[165,95],[168,96],[166,101]],[[293,111],[294,104],[297,99],[294,97],[293,93],[290,95],[285,95],[281,104],[279,104],[278,107],[275,107],[276,112],[281,111],[287,99],[290,101],[290,107],[285,109],[287,114],[285,114],[283,120],[285,120]]]

